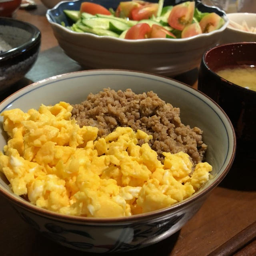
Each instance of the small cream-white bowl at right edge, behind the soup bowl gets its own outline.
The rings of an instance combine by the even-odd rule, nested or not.
[[[256,27],[256,13],[237,12],[227,14],[230,20],[225,33],[223,34],[222,43],[236,43],[236,42],[256,42],[256,33],[246,32],[237,28],[234,28],[231,24],[236,22],[242,25],[245,21],[248,27]]]

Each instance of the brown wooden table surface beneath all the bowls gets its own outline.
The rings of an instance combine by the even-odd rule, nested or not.
[[[2,94],[0,100],[32,82],[82,70],[62,52],[46,20],[46,8],[39,0],[36,3],[36,10],[18,10],[14,18],[32,23],[42,32],[38,60],[26,77]],[[175,79],[196,88],[197,76],[195,69]],[[122,255],[256,255],[255,164],[237,155],[226,178],[179,232],[158,244]],[[92,255],[64,248],[44,238],[23,222],[3,197],[0,197],[0,227],[0,256]]]

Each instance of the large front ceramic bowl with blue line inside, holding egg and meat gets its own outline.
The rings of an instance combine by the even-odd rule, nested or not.
[[[203,140],[208,145],[206,161],[213,166],[214,178],[190,198],[171,207],[130,217],[106,219],[65,216],[38,208],[16,196],[0,173],[0,193],[8,198],[26,222],[64,246],[87,252],[134,250],[174,234],[192,218],[208,193],[227,174],[236,148],[230,120],[210,98],[175,80],[142,72],[92,70],[55,76],[12,94],[0,103],[0,112],[13,108],[23,111],[37,109],[41,103],[80,103],[90,92],[98,93],[108,87],[114,90],[131,88],[135,93],[153,90],[162,100],[180,107],[182,122],[204,131]],[[5,144],[6,138],[1,132],[0,148]]]

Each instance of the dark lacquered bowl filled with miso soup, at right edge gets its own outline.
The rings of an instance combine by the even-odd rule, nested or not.
[[[222,44],[207,50],[198,74],[198,90],[229,116],[237,154],[256,159],[256,42]]]

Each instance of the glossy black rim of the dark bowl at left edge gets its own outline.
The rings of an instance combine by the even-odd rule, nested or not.
[[[18,56],[25,52],[28,52],[28,50],[30,50],[34,45],[38,44],[38,42],[40,43],[41,32],[36,26],[34,26],[28,22],[24,22],[22,20],[15,20],[13,18],[0,17],[0,21],[1,20],[6,20],[8,23],[10,23],[10,25],[8,24],[7,26],[12,26],[15,28],[16,28],[16,24],[22,24],[25,26],[25,28],[30,28],[32,30],[32,33],[31,33],[31,36],[28,41],[24,42],[23,44],[21,44],[18,47],[12,48],[8,51],[1,53],[0,54],[0,62],[14,58],[15,56]],[[2,26],[2,24],[1,24],[1,26]],[[22,29],[22,28],[20,28],[20,29]]]

